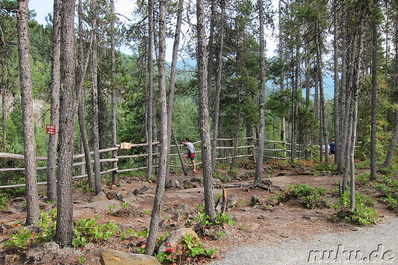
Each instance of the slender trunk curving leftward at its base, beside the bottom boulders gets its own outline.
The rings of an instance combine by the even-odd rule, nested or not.
[[[167,96],[166,96],[166,0],[159,2],[159,109],[160,109],[160,155],[156,194],[153,202],[152,217],[145,252],[152,255],[155,249],[159,228],[163,193],[165,190],[166,164],[170,143],[167,136]]]

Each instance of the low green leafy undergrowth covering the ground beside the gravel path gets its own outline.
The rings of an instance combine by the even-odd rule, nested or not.
[[[301,180],[297,178],[297,183],[287,184],[279,192],[276,189],[272,190],[272,192],[270,190],[261,190],[257,186],[251,188],[250,185],[253,184],[252,180],[254,177],[253,164],[250,161],[244,161],[240,163],[240,166],[242,167],[230,170],[221,165],[214,174],[214,177],[219,178],[223,183],[240,183],[240,189],[236,190],[235,198],[229,199],[227,212],[218,213],[215,220],[210,220],[204,213],[204,205],[200,200],[195,201],[199,203],[192,206],[178,201],[168,203],[168,206],[173,205],[173,207],[165,206],[165,209],[162,210],[163,221],[159,231],[157,247],[178,227],[193,228],[197,232],[198,238],[186,235],[185,244],[177,247],[168,247],[165,252],[156,254],[156,258],[161,263],[200,264],[209,259],[219,258],[221,251],[218,248],[228,245],[226,242],[231,241],[232,236],[235,238],[241,237],[243,240],[247,239],[250,233],[252,233],[250,237],[256,237],[255,235],[264,233],[258,227],[258,222],[260,222],[258,220],[271,222],[270,220],[274,218],[273,214],[277,212],[286,216],[286,219],[281,220],[282,223],[275,227],[286,226],[286,231],[290,231],[288,225],[297,223],[297,221],[291,221],[296,219],[297,214],[294,217],[295,215],[290,211],[321,215],[316,218],[315,223],[311,221],[314,225],[317,223],[324,225],[329,222],[333,226],[333,223],[341,224],[341,222],[345,222],[344,226],[347,227],[377,224],[383,220],[386,213],[393,216],[397,216],[398,213],[398,179],[396,175],[398,169],[394,167],[389,169],[389,171],[383,171],[383,175],[379,175],[377,180],[370,180],[370,175],[367,172],[358,174],[356,177],[355,208],[349,209],[349,191],[340,197],[338,196],[337,183],[340,181],[340,176],[333,175],[325,178],[328,179],[326,186],[316,184],[313,181],[320,172],[326,170],[333,172],[334,165],[305,162],[300,165],[291,165],[286,162],[276,161],[264,165],[265,175],[271,176],[268,178],[268,181],[271,182],[278,173],[282,171],[289,172],[292,168],[298,166],[305,167],[314,174],[305,176]],[[335,172],[333,173],[335,174]],[[182,176],[180,173],[176,175]],[[154,181],[156,181],[156,178],[146,180],[144,176],[124,176],[120,177],[119,185],[116,186],[122,188],[126,187],[127,184],[148,183],[148,181],[155,185]],[[302,181],[308,183],[302,183]],[[315,185],[312,185],[312,182]],[[245,186],[244,183],[249,183],[249,185]],[[167,191],[173,192],[172,189]],[[93,196],[93,192],[87,189],[85,180],[74,184],[74,193],[88,198]],[[193,196],[195,197],[195,195]],[[40,256],[40,259],[36,257],[38,252],[43,252],[43,248],[54,248],[56,208],[41,211],[38,226],[25,227],[23,225],[23,213],[17,216],[7,213],[9,202],[15,201],[16,197],[23,199],[23,189],[2,190],[0,210],[2,211],[1,245],[3,251],[0,255],[10,257],[10,264],[35,263],[43,259],[43,256]],[[218,193],[215,199],[218,200],[220,197],[221,193]],[[253,198],[255,203],[252,203]],[[281,205],[276,206],[279,203],[272,203],[270,199],[276,199]],[[67,250],[55,251],[54,253],[59,253],[59,255],[52,257],[51,262],[55,264],[61,260],[66,264],[98,264],[96,250],[104,247],[124,249],[133,253],[144,253],[146,238],[149,233],[147,224],[150,219],[151,211],[148,210],[150,205],[151,202],[146,204],[147,208],[138,210],[134,214],[134,220],[131,219],[131,215],[128,215],[128,219],[124,217],[121,221],[120,217],[118,217],[120,212],[110,207],[109,211],[101,215],[96,214],[77,218],[75,220],[73,246]],[[121,206],[122,210],[129,210],[130,214],[134,212],[129,203],[123,202]],[[242,212],[246,214],[242,215]],[[259,214],[259,212],[262,213]],[[253,218],[256,215],[257,217]],[[140,226],[139,224],[142,225]],[[278,234],[282,230],[270,231],[269,233]],[[247,243],[250,244],[250,241]],[[41,250],[39,251],[40,248]],[[60,254],[63,251],[72,254]],[[51,264],[51,262],[48,264]]]

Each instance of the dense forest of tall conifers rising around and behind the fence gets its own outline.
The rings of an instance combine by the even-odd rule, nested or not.
[[[314,159],[337,165],[342,191],[351,185],[353,207],[354,162],[367,164],[372,178],[398,162],[398,2],[275,3],[137,1],[134,21],[126,21],[113,0],[54,0],[48,24],[40,25],[27,0],[0,0],[1,150],[25,156],[25,162],[0,159],[0,168],[25,167],[23,173],[0,172],[0,184],[26,182],[26,193],[33,194],[26,222],[38,219],[35,182],[48,181],[47,196],[58,202],[55,240],[70,245],[71,194],[60,190],[71,189],[78,170],[72,156],[94,151],[86,174],[99,193],[100,149],[159,141],[160,147],[123,151],[145,152],[146,159],[119,159],[112,166],[140,165],[148,178],[157,174],[156,233],[174,132],[178,143],[201,141],[205,189],[217,138],[247,138],[247,146],[255,146],[239,152],[253,155],[258,182],[272,155],[264,140],[275,141],[274,149],[289,144],[290,152],[279,155],[295,163],[303,151],[319,151],[335,139],[335,156],[319,152]],[[174,41],[172,62],[165,61],[166,39]],[[267,57],[273,39],[277,50]],[[130,55],[118,51],[122,45]],[[330,77],[332,97],[325,93]],[[46,134],[46,124],[56,125],[57,133]],[[47,171],[36,173],[39,166]],[[115,172],[107,177],[117,180]],[[205,211],[214,218],[212,196],[205,192]],[[150,234],[149,254],[151,240]]]

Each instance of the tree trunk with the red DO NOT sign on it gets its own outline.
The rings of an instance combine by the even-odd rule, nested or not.
[[[51,40],[52,52],[52,74],[51,74],[51,118],[50,123],[56,126],[56,134],[50,134],[47,149],[47,199],[57,199],[57,180],[55,178],[55,167],[57,160],[57,143],[59,130],[59,88],[60,88],[60,10],[61,0],[54,0],[53,32]]]

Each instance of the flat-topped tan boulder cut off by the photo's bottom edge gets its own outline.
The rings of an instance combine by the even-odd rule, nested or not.
[[[100,250],[101,265],[160,265],[153,256],[118,250]]]

